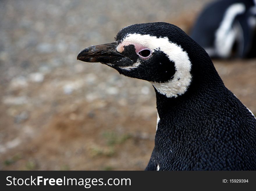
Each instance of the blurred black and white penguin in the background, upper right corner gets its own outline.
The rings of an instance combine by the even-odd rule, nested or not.
[[[213,58],[256,56],[256,0],[219,0],[207,5],[191,38]]]

